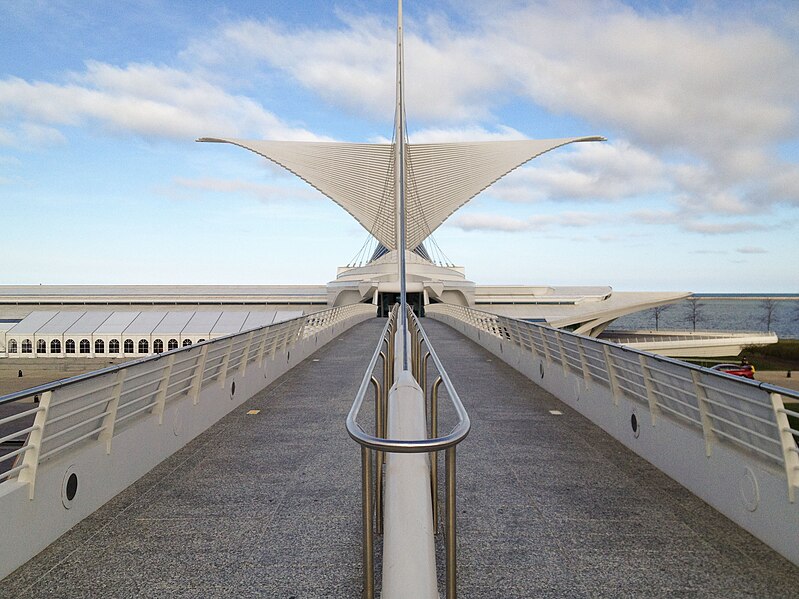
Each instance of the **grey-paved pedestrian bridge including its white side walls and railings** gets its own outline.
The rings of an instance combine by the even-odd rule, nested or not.
[[[101,404],[95,416],[105,428],[87,431],[69,424],[58,431],[67,431],[58,441],[55,429],[42,434],[35,423],[26,427],[33,443],[17,450],[16,471],[0,475],[6,479],[0,483],[4,565],[15,551],[25,550],[25,537],[52,534],[47,531],[54,523],[48,520],[63,519],[66,532],[32,559],[21,560],[0,582],[0,597],[359,597],[361,452],[347,435],[345,419],[386,320],[356,312],[336,324],[304,322],[301,331],[284,323],[282,337],[256,332],[209,342],[206,349],[177,350],[143,361],[138,368],[146,367],[147,375],[110,369],[110,387],[97,379],[76,383],[94,385],[83,389],[81,397],[89,400],[62,412],[67,417],[60,422],[69,424],[76,411],[93,413],[87,406]],[[713,493],[726,492],[731,478],[730,503],[721,500],[717,507],[790,554],[784,539],[757,527],[761,515],[768,520],[769,511],[772,517],[781,514],[776,528],[788,535],[788,543],[799,543],[790,536],[799,528],[790,470],[791,455],[797,454],[784,436],[786,431],[791,436],[786,423],[792,411],[782,403],[757,404],[760,412],[738,407],[740,418],[724,418],[725,424],[721,407],[697,408],[696,425],[692,412],[663,389],[671,385],[687,395],[690,381],[700,389],[699,404],[711,406],[727,401],[713,388],[752,405],[757,393],[782,401],[773,390],[698,370],[681,374],[672,361],[638,352],[615,356],[607,344],[601,353],[616,367],[603,371],[596,348],[570,345],[568,334],[543,328],[542,337],[525,337],[524,323],[511,326],[509,319],[469,312],[431,310],[433,318],[422,321],[472,422],[457,457],[462,597],[796,596],[794,563],[686,488],[701,494],[697,487],[704,484],[706,499],[716,501]],[[227,353],[217,355],[213,344],[224,343]],[[256,365],[262,363],[262,380],[266,373],[274,379],[249,393],[255,383],[247,371],[260,374]],[[164,368],[169,368],[166,379]],[[182,377],[176,374],[180,370]],[[207,373],[197,375],[196,385],[195,371]],[[427,381],[435,374],[433,369]],[[705,376],[716,377],[715,387]],[[125,383],[131,377],[137,382]],[[238,391],[231,383],[238,383]],[[134,387],[151,400],[125,404],[120,396]],[[607,405],[600,406],[605,401],[600,387],[609,389]],[[116,393],[118,412],[109,414],[101,388]],[[212,399],[210,393],[219,390],[222,397]],[[45,391],[51,394],[47,398],[42,393],[41,403],[31,404],[30,417],[41,420],[49,410],[51,419],[58,418],[62,404],[56,399],[67,391]],[[171,402],[184,396],[198,410],[224,399],[229,413],[201,418],[187,407],[173,410]],[[47,410],[35,407],[47,401],[52,402]],[[449,430],[457,414],[443,406],[440,427]],[[600,408],[608,416],[597,415]],[[133,428],[125,428],[120,418],[135,410],[159,420],[157,435],[127,435]],[[766,442],[768,412],[777,418],[771,443]],[[744,424],[752,418],[762,427]],[[218,421],[194,436],[212,419]],[[744,426],[749,429],[741,438],[754,449],[741,448],[730,432]],[[186,444],[187,437],[193,440]],[[682,446],[675,448],[676,457],[664,455],[667,437]],[[82,461],[72,451],[87,439],[102,451]],[[64,447],[67,443],[72,445]],[[698,445],[701,460],[684,456],[692,445]],[[33,449],[25,449],[29,446]],[[746,451],[752,455],[735,462]],[[29,458],[33,454],[36,460]],[[127,463],[125,455],[139,456],[139,465],[128,465],[142,476],[119,493],[109,491],[106,501],[92,479],[103,474],[110,481],[103,484],[121,486],[124,477],[113,470]],[[687,476],[686,486],[650,462],[675,478]],[[686,468],[698,474],[691,478]],[[76,490],[70,490],[71,474],[78,475]],[[440,486],[444,495],[443,481]],[[103,505],[84,508],[84,501]],[[437,562],[443,564],[443,535],[435,543]],[[379,593],[379,535],[374,553]],[[443,567],[437,572],[443,592],[446,572]]]

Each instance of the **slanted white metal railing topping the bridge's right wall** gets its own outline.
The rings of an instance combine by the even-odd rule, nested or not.
[[[463,306],[432,304],[428,316],[446,316],[513,343],[533,357],[646,406],[657,418],[697,429],[710,455],[712,443],[729,443],[750,456],[778,464],[791,502],[799,487],[799,393],[638,351],[540,323]],[[788,403],[789,408],[785,404]]]

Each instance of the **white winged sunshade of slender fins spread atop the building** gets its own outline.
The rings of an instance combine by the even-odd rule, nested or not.
[[[458,208],[525,162],[566,144],[603,140],[406,144],[406,249],[419,246]],[[198,141],[234,144],[284,167],[344,208],[385,247],[397,249],[394,144]]]

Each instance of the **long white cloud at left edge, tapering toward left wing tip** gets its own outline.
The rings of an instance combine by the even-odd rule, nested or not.
[[[27,119],[40,134],[53,127],[97,123],[148,139],[203,135],[320,139],[290,127],[254,100],[230,94],[192,73],[163,66],[89,62],[68,83],[0,81],[0,114]],[[31,129],[33,130],[33,129]]]

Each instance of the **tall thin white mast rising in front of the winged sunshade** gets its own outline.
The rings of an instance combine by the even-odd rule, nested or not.
[[[402,0],[397,0],[397,106],[394,118],[394,189],[396,193],[396,247],[397,264],[399,267],[400,280],[400,322],[402,323],[402,348],[403,348],[403,368],[408,366],[408,342],[406,331],[407,322],[407,295],[405,289],[405,106],[403,79],[405,79],[405,68],[403,64],[402,49]]]

